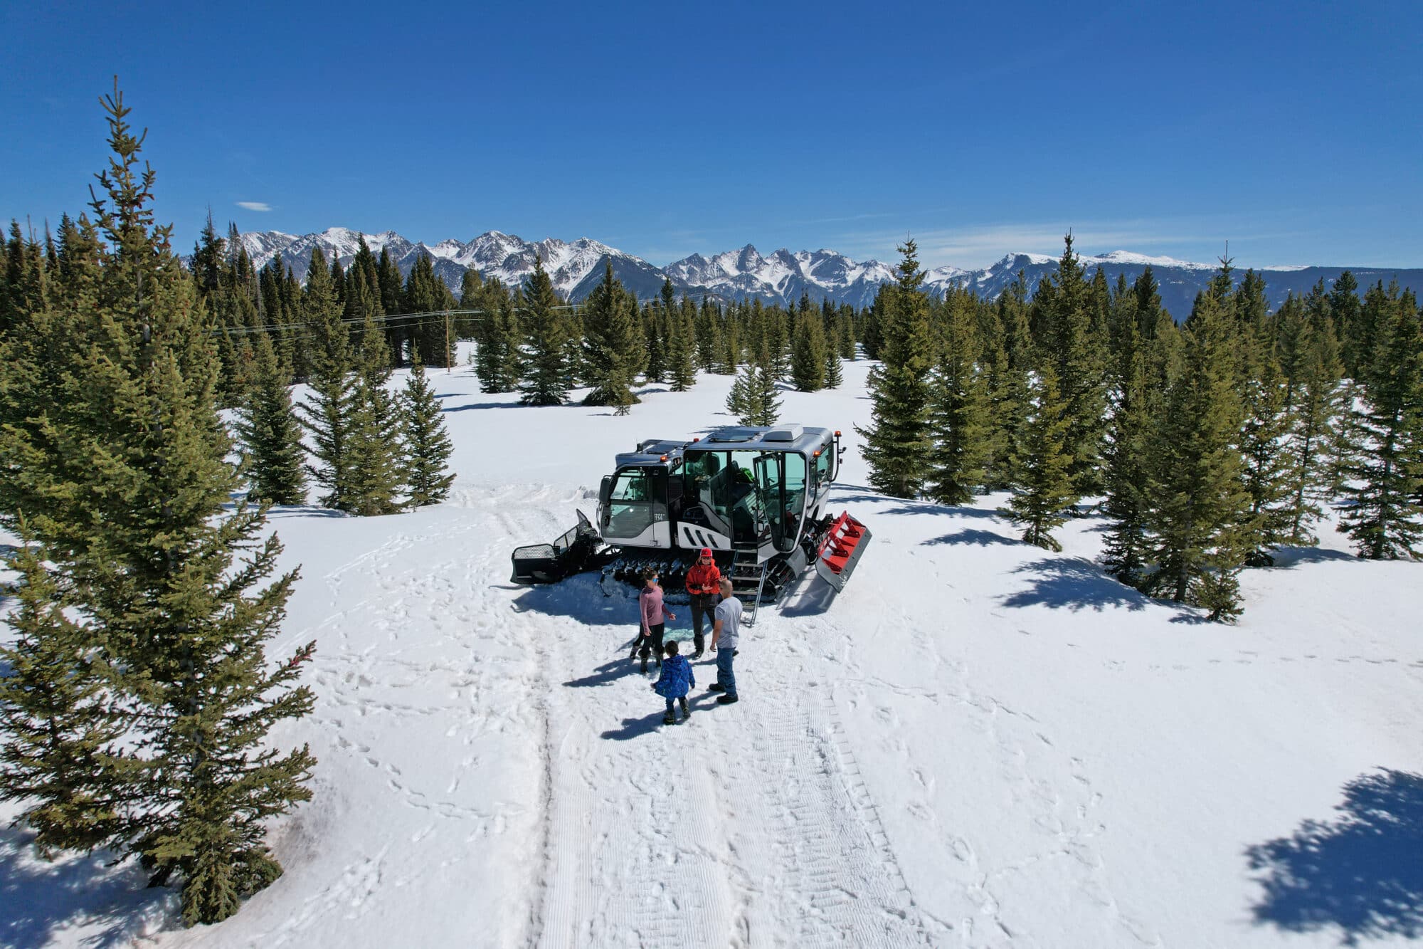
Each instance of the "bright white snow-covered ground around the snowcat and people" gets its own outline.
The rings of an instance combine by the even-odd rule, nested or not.
[[[0,945],[1333,946],[1423,935],[1423,564],[1316,550],[1201,623],[993,510],[864,487],[845,388],[783,419],[847,435],[837,506],[874,530],[743,637],[743,701],[693,715],[626,658],[632,590],[509,584],[509,551],[592,513],[615,452],[726,423],[730,379],[628,418],[529,409],[433,372],[448,503],[273,524],[302,564],[272,654],[310,638],[320,759],[277,824],[286,875],[184,930],[101,856],[0,836]],[[676,607],[673,607],[676,608]],[[670,624],[689,638],[689,617]],[[13,812],[13,811],[11,811]],[[0,812],[0,819],[10,812]]]

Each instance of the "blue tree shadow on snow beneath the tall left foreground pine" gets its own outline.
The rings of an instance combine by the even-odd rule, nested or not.
[[[139,936],[145,905],[171,891],[147,889],[131,864],[114,871],[108,851],[64,855],[53,864],[28,856],[30,831],[0,831],[0,946],[50,945],[60,930],[95,928],[85,946],[127,946]]]

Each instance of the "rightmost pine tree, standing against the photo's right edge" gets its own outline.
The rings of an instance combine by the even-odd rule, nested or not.
[[[1416,556],[1423,539],[1423,336],[1412,294],[1390,288],[1387,319],[1380,319],[1377,345],[1363,370],[1363,405],[1355,408],[1358,442],[1346,465],[1340,530],[1360,557],[1397,560]],[[1365,301],[1365,311],[1369,301]]]

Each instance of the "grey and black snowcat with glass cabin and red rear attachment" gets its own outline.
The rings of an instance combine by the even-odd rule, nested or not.
[[[512,581],[556,583],[583,570],[640,583],[656,567],[679,593],[702,549],[730,577],[750,620],[811,563],[842,590],[869,529],[827,512],[840,472],[840,432],[781,425],[727,426],[690,442],[647,439],[618,455],[598,492],[598,523],[578,524],[552,544],[514,551]]]

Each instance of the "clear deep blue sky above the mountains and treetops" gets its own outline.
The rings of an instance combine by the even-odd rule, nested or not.
[[[455,4],[451,4],[455,6]],[[1423,4],[0,4],[0,218],[1423,265]],[[270,209],[258,209],[270,208]]]

